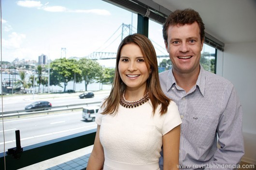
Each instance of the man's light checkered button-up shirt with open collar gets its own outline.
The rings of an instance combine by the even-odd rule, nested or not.
[[[244,145],[242,106],[232,83],[201,65],[197,83],[189,92],[176,84],[172,69],[159,76],[163,92],[178,105],[183,121],[180,169],[236,169]]]

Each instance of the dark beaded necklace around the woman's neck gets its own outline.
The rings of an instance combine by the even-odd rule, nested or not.
[[[149,95],[148,92],[139,100],[136,101],[127,101],[125,99],[125,91],[123,92],[123,95],[121,96],[120,99],[120,105],[126,107],[126,108],[134,108],[134,107],[138,107],[140,105],[143,105],[144,103],[146,103],[149,100]]]

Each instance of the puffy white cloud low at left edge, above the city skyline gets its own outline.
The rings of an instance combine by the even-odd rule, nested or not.
[[[23,39],[26,39],[25,34],[17,34],[16,32],[12,32],[8,36],[9,39],[2,39],[2,45],[7,49],[18,49],[21,47],[21,43]]]

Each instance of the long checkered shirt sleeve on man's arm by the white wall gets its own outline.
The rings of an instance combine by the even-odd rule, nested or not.
[[[233,85],[227,88],[227,96],[224,99],[225,106],[222,117],[219,120],[217,133],[219,136],[218,144],[220,148],[214,154],[212,162],[208,163],[205,170],[225,170],[237,169],[242,156],[244,155],[244,144],[242,136],[242,105]],[[212,167],[212,168],[210,168]]]

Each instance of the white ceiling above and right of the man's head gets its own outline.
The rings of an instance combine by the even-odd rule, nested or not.
[[[256,0],[153,0],[175,11],[199,12],[205,32],[223,43],[256,42]]]

